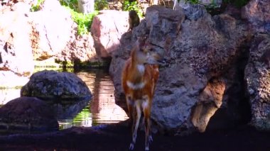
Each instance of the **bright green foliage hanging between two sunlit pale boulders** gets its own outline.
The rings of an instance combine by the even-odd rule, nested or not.
[[[92,25],[93,18],[98,14],[98,11],[88,14],[77,12],[77,0],[60,0],[60,4],[70,11],[72,20],[77,23],[78,34],[87,34]]]

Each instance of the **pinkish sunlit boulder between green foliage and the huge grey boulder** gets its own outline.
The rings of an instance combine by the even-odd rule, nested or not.
[[[111,57],[110,53],[119,49],[120,38],[129,29],[129,13],[106,10],[95,16],[91,33],[99,57]]]

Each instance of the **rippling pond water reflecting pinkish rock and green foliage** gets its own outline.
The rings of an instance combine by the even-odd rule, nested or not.
[[[114,102],[114,84],[107,71],[92,69],[75,74],[87,84],[92,93],[92,99],[75,118],[59,119],[60,129],[117,123],[128,118],[124,110]],[[0,106],[18,98],[20,91],[21,89],[0,89]]]

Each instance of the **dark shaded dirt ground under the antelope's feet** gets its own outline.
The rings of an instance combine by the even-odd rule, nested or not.
[[[144,150],[139,131],[135,150]],[[128,150],[131,134],[126,123],[70,128],[44,134],[0,135],[0,150]],[[247,125],[206,130],[188,136],[153,134],[150,150],[270,150],[270,133]]]

